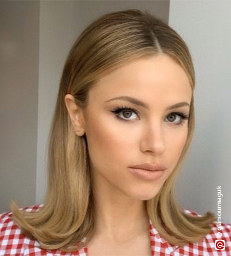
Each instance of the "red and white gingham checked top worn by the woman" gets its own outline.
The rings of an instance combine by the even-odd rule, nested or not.
[[[21,208],[21,210],[26,210],[26,212],[36,212],[40,210],[41,207],[43,207],[43,204],[32,205],[30,207]],[[182,209],[188,214],[201,216],[196,212],[185,210],[184,208]],[[11,217],[11,212],[3,213],[2,215],[0,215],[0,256],[88,256],[87,247],[83,247],[79,251],[75,252],[63,252],[59,249],[42,249],[38,241],[27,238],[21,232],[21,230],[18,228],[18,226],[16,226],[15,222],[13,222]],[[174,246],[168,243],[162,236],[159,235],[150,220],[151,254],[153,256],[231,256],[231,225],[222,223],[222,231],[218,231],[216,225],[217,222],[214,222],[212,224],[212,230],[210,231],[210,233],[204,236],[204,238],[198,243],[187,243],[184,246]],[[221,238],[217,235],[218,232],[222,233]],[[224,240],[225,249],[216,250],[215,240]]]

